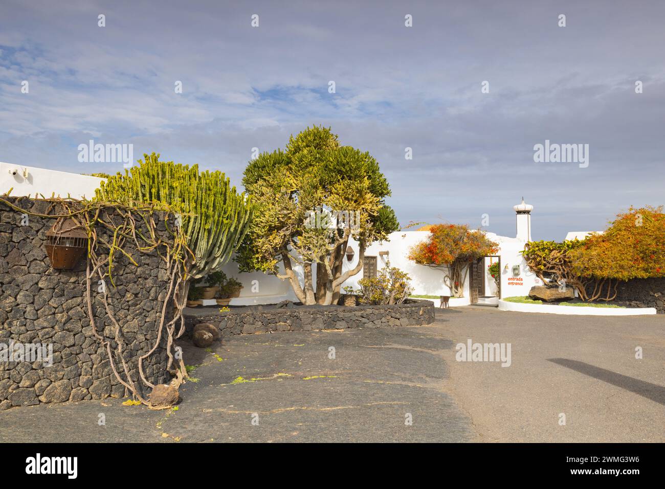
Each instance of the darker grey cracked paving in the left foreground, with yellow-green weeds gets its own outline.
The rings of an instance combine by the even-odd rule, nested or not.
[[[436,328],[237,336],[211,351],[184,345],[198,381],[181,387],[177,411],[120,399],[10,409],[0,413],[0,440],[466,441],[471,423],[445,389],[450,351]]]

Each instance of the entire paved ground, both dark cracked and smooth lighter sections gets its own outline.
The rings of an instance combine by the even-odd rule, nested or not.
[[[662,442],[664,333],[664,316],[467,307],[438,310],[430,326],[235,336],[208,350],[185,341],[196,381],[177,410],[124,399],[14,408],[0,412],[0,441]],[[469,338],[511,343],[511,366],[455,361]]]

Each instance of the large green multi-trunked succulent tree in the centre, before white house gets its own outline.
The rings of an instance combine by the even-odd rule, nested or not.
[[[390,188],[376,159],[340,146],[330,128],[307,128],[284,151],[261,153],[249,161],[243,185],[256,207],[236,258],[240,269],[289,279],[303,304],[336,300],[340,284],[362,269],[366,246],[399,227],[384,201]],[[358,266],[342,273],[351,238],[360,248]],[[294,264],[303,267],[302,283]]]

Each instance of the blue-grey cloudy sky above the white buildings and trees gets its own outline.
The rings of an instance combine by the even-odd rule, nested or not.
[[[0,0],[0,161],[122,170],[78,161],[92,139],[241,189],[253,148],[322,124],[379,161],[402,225],[514,237],[524,197],[561,241],[664,204],[663,25],[641,0]],[[588,165],[534,161],[546,140]]]

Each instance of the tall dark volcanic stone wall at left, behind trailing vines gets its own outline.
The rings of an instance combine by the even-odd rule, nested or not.
[[[61,205],[49,201],[5,199],[34,213],[54,215],[63,211]],[[120,219],[116,211],[110,216]],[[166,238],[164,216],[155,214],[154,219],[158,235]],[[137,220],[137,226],[141,221]],[[90,324],[85,299],[86,258],[74,270],[51,268],[44,244],[45,233],[53,223],[55,219],[29,214],[26,221],[25,213],[0,201],[0,410],[125,394]],[[100,239],[112,242],[110,231],[100,228],[98,234]],[[138,357],[156,341],[169,277],[164,260],[156,252],[138,252],[131,241],[126,241],[123,248],[139,266],[116,252],[112,269],[115,287],[108,278],[103,285],[98,277],[91,282],[93,317],[97,334],[115,348],[116,327],[100,292],[105,286],[109,310],[120,325],[117,337],[124,343],[123,357],[130,377],[144,391],[147,386],[139,381]],[[172,314],[172,304],[166,310]],[[30,345],[51,349],[51,360],[32,361],[34,355],[25,355],[34,348]],[[116,368],[122,372],[118,361]],[[167,381],[170,375],[166,365],[166,338],[162,335],[156,351],[143,361],[146,379],[154,384]]]

